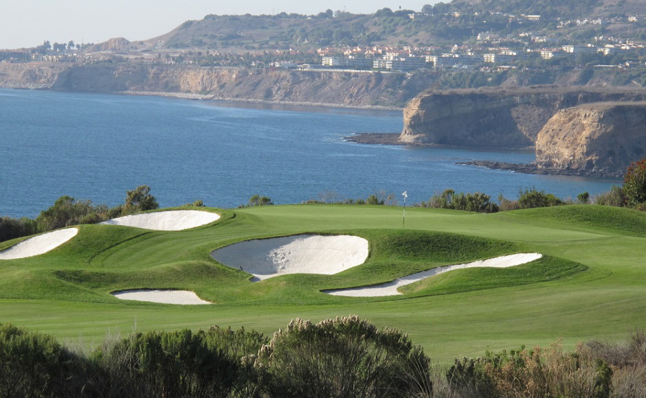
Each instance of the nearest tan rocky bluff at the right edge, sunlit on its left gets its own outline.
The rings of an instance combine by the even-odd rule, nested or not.
[[[597,103],[560,110],[539,132],[536,166],[621,175],[646,156],[646,102]]]

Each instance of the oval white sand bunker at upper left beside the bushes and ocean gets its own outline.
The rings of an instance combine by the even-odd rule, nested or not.
[[[101,224],[135,226],[157,231],[181,231],[210,224],[220,218],[219,214],[199,210],[168,210],[155,213],[125,215],[104,221]]]

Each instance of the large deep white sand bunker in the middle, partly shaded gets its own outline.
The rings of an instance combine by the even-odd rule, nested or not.
[[[283,274],[336,274],[363,264],[368,241],[351,235],[295,235],[247,240],[214,250],[217,261],[260,281]]]

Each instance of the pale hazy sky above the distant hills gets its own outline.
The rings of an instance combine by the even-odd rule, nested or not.
[[[419,11],[438,0],[8,0],[0,6],[0,49],[50,43],[146,40],[207,14],[318,14],[328,8],[371,14],[388,7]],[[449,0],[445,0],[449,2]]]

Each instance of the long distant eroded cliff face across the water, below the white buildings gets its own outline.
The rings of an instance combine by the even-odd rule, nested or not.
[[[154,65],[88,66],[63,71],[53,89],[195,93],[237,100],[401,108],[432,76],[227,69]]]

